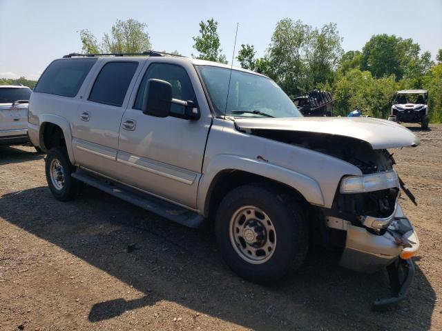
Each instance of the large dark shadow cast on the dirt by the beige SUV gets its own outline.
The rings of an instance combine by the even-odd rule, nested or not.
[[[283,281],[247,283],[220,259],[211,228],[184,228],[93,188],[68,203],[46,187],[4,194],[0,217],[144,293],[96,302],[91,322],[164,300],[255,330],[430,328],[436,294],[419,268],[410,297],[379,313],[370,306],[389,293],[384,272],[345,270],[335,254],[315,251]]]

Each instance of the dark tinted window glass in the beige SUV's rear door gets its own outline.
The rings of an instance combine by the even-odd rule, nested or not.
[[[111,106],[122,106],[137,66],[138,62],[106,63],[95,79],[89,100]]]

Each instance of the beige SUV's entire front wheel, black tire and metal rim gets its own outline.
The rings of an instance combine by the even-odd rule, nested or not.
[[[271,283],[298,268],[308,250],[308,231],[298,203],[269,185],[244,185],[227,194],[215,219],[227,265],[254,283]]]

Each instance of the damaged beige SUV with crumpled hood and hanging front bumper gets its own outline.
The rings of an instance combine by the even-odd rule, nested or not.
[[[395,294],[377,308],[405,297],[419,241],[387,149],[419,139],[397,123],[305,118],[261,74],[160,52],[53,61],[28,121],[56,199],[83,182],[193,228],[214,221],[226,263],[258,283],[320,242],[347,268],[389,269]]]

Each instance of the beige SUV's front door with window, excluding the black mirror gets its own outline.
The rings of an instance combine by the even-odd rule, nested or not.
[[[117,170],[125,183],[195,208],[211,114],[205,99],[198,104],[202,114],[198,121],[143,114],[144,90],[152,78],[171,83],[174,99],[196,104],[203,101],[204,94],[192,66],[151,63],[123,115]],[[198,88],[197,94],[194,86]],[[184,107],[172,104],[171,112],[182,113]]]

